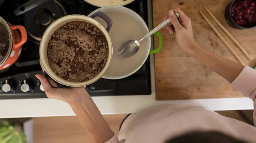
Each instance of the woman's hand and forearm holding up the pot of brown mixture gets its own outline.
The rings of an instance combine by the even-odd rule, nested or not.
[[[36,77],[41,81],[48,98],[55,98],[70,104],[91,143],[119,142],[84,87],[52,88],[48,80],[52,85],[56,85],[55,81],[47,80],[40,74]]]

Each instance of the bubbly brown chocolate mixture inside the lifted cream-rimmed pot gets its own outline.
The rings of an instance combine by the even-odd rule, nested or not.
[[[60,78],[71,82],[95,77],[108,59],[108,42],[94,25],[68,22],[58,28],[48,44],[48,61]]]

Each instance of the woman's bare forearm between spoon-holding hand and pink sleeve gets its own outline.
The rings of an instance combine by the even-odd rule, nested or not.
[[[218,56],[215,53],[209,52],[208,50],[201,48],[198,45],[191,48],[191,50],[187,51],[187,53],[189,56],[198,60],[198,62],[201,62],[201,64],[204,64],[211,70],[218,73],[230,83],[236,79],[236,77],[244,68],[241,64]]]

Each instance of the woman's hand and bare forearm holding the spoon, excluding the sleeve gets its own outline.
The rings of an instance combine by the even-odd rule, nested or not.
[[[177,17],[174,14],[176,11],[180,14],[179,20],[177,20]],[[173,26],[169,25],[166,27],[166,29],[171,31],[171,33],[176,31],[176,40],[182,50],[188,53],[189,56],[198,60],[198,62],[201,62],[211,70],[218,73],[230,83],[236,79],[244,67],[241,64],[237,64],[236,62],[232,62],[226,58],[216,55],[215,53],[209,52],[204,48],[201,48],[195,42],[191,20],[183,13],[183,11],[181,11],[179,8],[175,8],[169,11],[164,19],[167,19],[168,17]]]

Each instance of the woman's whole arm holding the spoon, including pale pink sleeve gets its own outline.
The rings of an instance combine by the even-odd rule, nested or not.
[[[176,11],[180,14],[179,20],[174,14]],[[163,20],[167,18],[170,19],[172,25],[166,26],[166,29],[171,34],[176,31],[176,41],[182,50],[229,81],[245,97],[253,100],[253,118],[256,125],[256,70],[249,66],[243,67],[236,62],[201,48],[195,42],[190,18],[179,8],[169,11]]]

